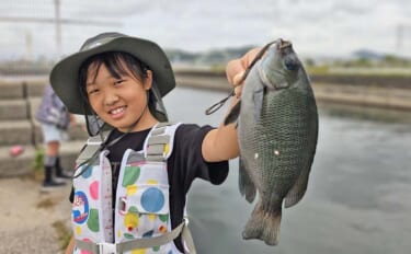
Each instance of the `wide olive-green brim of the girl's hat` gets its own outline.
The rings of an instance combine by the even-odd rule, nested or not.
[[[129,36],[116,37],[109,43],[76,53],[62,59],[53,68],[50,72],[52,86],[70,113],[91,114],[84,107],[84,99],[80,92],[79,69],[85,59],[105,51],[128,53],[146,64],[153,72],[153,80],[161,97],[175,88],[174,73],[170,61],[156,43]]]

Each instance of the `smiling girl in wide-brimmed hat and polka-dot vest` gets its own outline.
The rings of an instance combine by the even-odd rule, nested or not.
[[[66,253],[195,253],[186,194],[196,177],[226,180],[228,160],[239,153],[236,126],[168,124],[170,62],[137,37],[88,39],[54,67],[50,81],[71,113],[85,115],[92,136],[75,173]]]

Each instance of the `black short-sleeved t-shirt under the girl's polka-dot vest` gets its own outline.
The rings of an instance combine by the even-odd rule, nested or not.
[[[168,160],[169,184],[170,184],[170,217],[174,229],[184,216],[185,197],[191,184],[196,177],[213,184],[221,184],[228,175],[228,161],[207,163],[202,155],[202,143],[205,135],[212,130],[210,126],[199,127],[197,125],[180,125],[175,131],[173,151]],[[118,169],[123,154],[127,149],[140,151],[150,129],[129,132],[112,147],[109,147],[109,160],[112,164],[115,182],[118,178]],[[113,130],[109,137],[111,140],[122,136],[123,132]],[[115,185],[116,186],[116,185]],[[113,187],[113,189],[115,189]],[[115,192],[115,190],[114,190]],[[114,196],[114,195],[113,195]],[[73,192],[70,194],[72,203]],[[115,200],[115,199],[114,199]],[[182,251],[180,238],[174,241]]]

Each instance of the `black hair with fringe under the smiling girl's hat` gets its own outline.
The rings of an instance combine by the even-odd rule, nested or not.
[[[128,74],[129,71],[132,72],[134,78],[141,82],[147,79],[147,70],[149,70],[149,67],[146,64],[134,57],[132,54],[124,51],[105,51],[89,57],[85,61],[82,62],[79,69],[79,89],[80,93],[83,96],[84,107],[89,109],[92,108],[89,103],[85,88],[88,71],[91,66],[95,66],[95,73],[93,78],[95,79],[102,65],[104,65],[105,68],[107,68],[110,74],[112,74],[116,79],[119,79],[124,74]],[[156,114],[153,114],[156,102],[150,92],[148,92],[148,107],[151,114],[156,116]]]

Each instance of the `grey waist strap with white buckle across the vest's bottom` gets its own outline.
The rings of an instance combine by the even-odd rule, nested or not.
[[[92,254],[122,254],[124,252],[133,251],[136,249],[161,246],[165,243],[172,242],[175,238],[178,238],[181,234],[185,247],[189,251],[187,253],[196,254],[194,241],[187,224],[189,219],[184,218],[184,221],[181,224],[179,224],[179,227],[159,236],[135,239],[121,243],[93,243],[76,240],[76,246],[80,250],[90,252]]]

